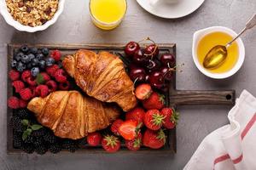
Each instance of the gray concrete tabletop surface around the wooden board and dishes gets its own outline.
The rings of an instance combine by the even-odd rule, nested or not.
[[[177,63],[185,63],[183,73],[177,73],[180,89],[234,88],[240,94],[247,89],[256,95],[256,30],[242,37],[246,60],[241,70],[227,80],[216,81],[203,76],[193,64],[191,43],[193,32],[208,26],[227,26],[240,31],[246,20],[256,12],[256,0],[206,0],[194,14],[179,20],[164,20],[148,14],[135,0],[128,0],[128,12],[121,26],[113,31],[101,31],[92,25],[89,0],[67,0],[61,18],[46,31],[26,33],[16,31],[0,17],[0,169],[182,169],[201,140],[214,129],[228,122],[227,106],[179,107],[177,154],[175,156],[137,155],[14,155],[6,154],[6,84],[8,42],[93,43],[128,42],[152,37],[156,42],[177,43]],[[192,0],[191,0],[192,1]]]

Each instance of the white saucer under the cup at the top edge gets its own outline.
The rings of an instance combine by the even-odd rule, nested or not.
[[[137,0],[148,13],[161,18],[177,19],[193,13],[205,0]]]

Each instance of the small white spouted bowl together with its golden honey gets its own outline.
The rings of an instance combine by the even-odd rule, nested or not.
[[[236,32],[224,26],[212,26],[200,31],[195,31],[193,37],[192,55],[196,67],[207,77],[223,79],[234,75],[243,64],[245,48],[241,38],[228,48],[227,58],[224,64],[214,69],[207,69],[203,66],[203,60],[207,53],[216,45],[225,45],[236,37]]]

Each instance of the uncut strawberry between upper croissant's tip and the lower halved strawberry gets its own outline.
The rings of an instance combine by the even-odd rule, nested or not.
[[[143,108],[136,107],[131,111],[128,111],[127,113],[125,113],[125,120],[135,120],[139,124],[141,124],[141,126],[143,126],[144,115],[145,115],[145,111],[143,110]]]

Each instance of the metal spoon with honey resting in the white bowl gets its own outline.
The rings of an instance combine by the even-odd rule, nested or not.
[[[230,45],[236,41],[238,37],[241,36],[241,34],[251,28],[253,26],[256,26],[256,14],[253,15],[253,17],[247,21],[246,27],[230,42],[228,42],[226,45],[217,45],[213,47],[206,55],[203,65],[207,69],[216,69],[220,65],[224,64],[225,59],[228,56],[228,48]]]

